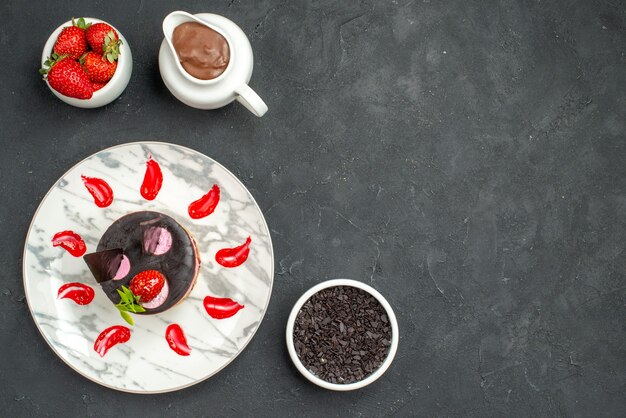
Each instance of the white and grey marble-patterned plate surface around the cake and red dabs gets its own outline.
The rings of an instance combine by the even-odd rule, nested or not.
[[[149,156],[160,164],[163,187],[153,201],[139,192]],[[114,192],[106,208],[94,204],[81,175],[106,180]],[[191,219],[188,205],[221,189],[211,215]],[[127,325],[95,282],[82,257],[53,247],[55,233],[80,234],[87,252],[95,251],[106,228],[119,217],[154,210],[176,219],[195,238],[202,265],[196,285],[182,303],[151,316],[135,315],[130,340],[100,357],[93,348],[101,331]],[[247,261],[224,268],[215,262],[221,248],[242,244],[251,236]],[[263,214],[245,186],[209,157],[178,145],[141,142],[105,149],[81,161],[56,182],[31,223],[23,258],[24,288],[35,324],[52,350],[70,367],[101,385],[135,393],[169,392],[201,382],[230,363],[250,342],[267,309],[274,278],[274,254]],[[68,282],[90,285],[96,297],[80,306],[57,299]],[[228,297],[245,305],[231,318],[216,320],[203,299]],[[176,354],[165,340],[168,324],[186,333],[191,355]]]

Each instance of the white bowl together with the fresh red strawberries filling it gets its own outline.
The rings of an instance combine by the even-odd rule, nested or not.
[[[55,96],[76,107],[94,108],[117,99],[133,70],[128,42],[100,19],[72,19],[48,38],[41,70]]]

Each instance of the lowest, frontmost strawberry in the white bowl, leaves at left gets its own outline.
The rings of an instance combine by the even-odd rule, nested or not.
[[[52,54],[44,63],[48,68],[39,70],[47,78],[50,87],[64,96],[91,99],[93,87],[81,65],[65,56]]]

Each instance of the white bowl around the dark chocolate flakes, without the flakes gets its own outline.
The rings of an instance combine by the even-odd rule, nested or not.
[[[336,287],[336,286],[356,287],[374,296],[378,300],[378,302],[380,302],[382,307],[385,309],[387,313],[387,318],[389,319],[389,325],[391,326],[391,345],[389,346],[389,352],[387,353],[387,357],[383,361],[383,364],[381,364],[380,367],[376,371],[374,371],[374,373],[370,374],[365,379],[360,380],[358,382],[354,382],[354,383],[347,383],[347,384],[330,383],[315,376],[300,361],[300,358],[298,357],[298,354],[296,353],[296,348],[293,342],[294,324],[296,322],[296,316],[298,315],[298,312],[300,312],[300,309],[302,309],[302,306],[306,303],[307,300],[311,298],[311,296],[313,296],[315,293],[319,292],[320,290],[327,289],[329,287]],[[312,288],[310,288],[309,290],[307,290],[300,297],[300,299],[298,299],[296,304],[293,306],[293,309],[291,310],[291,314],[289,314],[289,319],[287,320],[287,332],[286,332],[287,351],[289,351],[289,356],[291,357],[291,360],[293,361],[293,364],[296,366],[296,368],[300,371],[300,373],[302,373],[304,377],[306,377],[311,382],[325,389],[336,390],[336,391],[348,391],[348,390],[355,390],[355,389],[360,389],[362,387],[365,387],[369,385],[370,383],[374,382],[380,376],[382,376],[383,373],[385,373],[385,371],[391,365],[391,362],[393,361],[393,358],[396,355],[396,351],[398,350],[399,335],[400,334],[398,332],[398,321],[396,319],[396,315],[394,314],[393,309],[391,308],[391,305],[389,305],[389,302],[387,302],[387,300],[383,297],[383,295],[381,295],[376,289],[364,283],[358,282],[356,280],[348,280],[348,279],[328,280],[328,281],[319,283],[313,286]]]

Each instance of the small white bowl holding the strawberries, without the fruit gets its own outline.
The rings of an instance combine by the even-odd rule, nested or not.
[[[85,17],[85,22],[87,23],[107,23],[104,20],[95,19],[93,17]],[[44,62],[48,59],[48,57],[52,54],[52,48],[54,47],[54,43],[56,42],[59,34],[66,26],[72,26],[72,21],[65,22],[58,28],[52,32],[52,35],[48,38],[46,45],[43,47],[43,53],[41,54],[41,68],[44,67]],[[124,38],[124,35],[117,29],[115,26],[111,25],[113,29],[117,32],[117,35],[122,40],[122,45],[120,46],[120,55],[117,59],[117,69],[115,70],[115,74],[109,80],[106,86],[101,88],[98,91],[94,91],[91,99],[76,99],[74,97],[64,96],[52,87],[46,80],[46,84],[52,90],[55,96],[59,99],[63,100],[65,103],[70,104],[76,107],[82,107],[84,109],[92,109],[94,107],[100,107],[111,103],[113,100],[117,99],[120,94],[124,91],[126,86],[128,85],[128,81],[130,80],[130,75],[133,72],[133,56],[130,53],[130,47],[128,46],[128,41]]]

